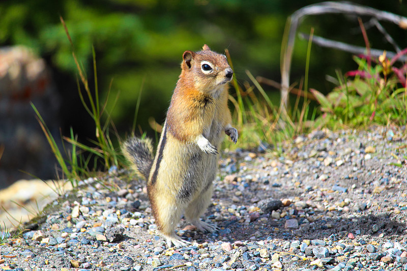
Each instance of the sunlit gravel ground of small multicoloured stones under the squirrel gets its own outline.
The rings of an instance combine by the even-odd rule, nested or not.
[[[0,246],[4,270],[407,270],[404,128],[328,130],[282,153],[225,151],[202,234],[166,247],[145,183],[128,172],[86,179]],[[273,154],[274,152],[274,154]],[[135,179],[134,179],[135,178]]]

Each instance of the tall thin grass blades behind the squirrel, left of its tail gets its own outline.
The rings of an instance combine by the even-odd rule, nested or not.
[[[107,92],[106,99],[103,103],[101,103],[99,97],[95,49],[92,47],[93,79],[95,82],[92,91],[88,78],[86,77],[85,72],[80,65],[80,62],[76,57],[75,47],[69,34],[68,27],[64,19],[62,17],[60,17],[60,19],[65,29],[67,38],[71,44],[72,56],[78,71],[78,95],[82,106],[85,108],[86,112],[88,112],[95,124],[96,140],[90,140],[90,143],[94,146],[89,146],[87,144],[79,142],[72,128],[70,129],[70,136],[62,136],[62,142],[58,143],[59,141],[55,140],[55,138],[52,136],[44,122],[44,119],[42,118],[40,112],[37,110],[34,104],[32,104],[32,107],[37,115],[38,122],[48,140],[48,143],[51,146],[57,163],[60,166],[60,174],[63,178],[67,178],[72,183],[72,186],[76,186],[79,179],[94,175],[94,170],[100,169],[103,171],[109,169],[112,166],[120,167],[125,163],[125,161],[119,151],[119,148],[116,148],[113,144],[113,141],[120,142],[120,136],[115,129],[110,114],[106,111],[107,101],[111,99],[109,98],[111,83]],[[117,102],[118,97],[119,96],[115,97],[115,102]],[[137,111],[140,104],[139,99],[137,101],[135,111],[133,132],[135,129]],[[111,133],[114,136],[114,140],[112,140]],[[67,147],[65,142],[69,143],[69,148]],[[101,166],[102,168],[100,168]]]

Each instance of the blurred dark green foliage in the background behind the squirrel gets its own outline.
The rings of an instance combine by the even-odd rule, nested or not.
[[[149,116],[153,116],[158,123],[164,120],[185,50],[199,50],[204,43],[216,51],[228,48],[240,83],[247,80],[246,69],[254,76],[279,81],[280,46],[286,18],[297,9],[316,2],[4,0],[0,3],[0,45],[23,44],[33,48],[48,60],[56,73],[69,75],[56,83],[64,92],[77,95],[77,69],[59,19],[61,15],[90,80],[93,72],[92,45],[96,50],[99,89],[105,95],[113,79],[110,95],[120,96],[117,103],[114,98],[109,99],[108,110],[120,131],[130,132],[136,101],[144,81],[137,123],[143,130],[149,130]],[[407,11],[399,1],[357,3],[400,15]],[[363,46],[360,33],[351,34],[350,31],[352,27],[358,27],[357,20],[344,18],[343,15],[311,17],[304,21],[300,31],[309,33],[310,28],[315,27],[315,35]],[[395,29],[390,34],[405,44],[405,32]],[[369,37],[373,47],[383,40],[381,34],[375,37]],[[299,82],[304,74],[306,48],[307,41],[296,42],[292,81]],[[382,48],[386,49],[385,46]],[[347,71],[355,68],[351,55],[347,53],[317,46],[313,46],[312,50],[309,86],[323,93],[333,87],[325,81],[326,74],[335,76],[335,69]],[[69,85],[69,88],[63,85]],[[273,92],[272,88],[265,89],[274,94],[274,99],[278,99],[275,89]],[[80,105],[70,106],[75,109]],[[78,119],[78,122],[81,121],[84,119]]]

